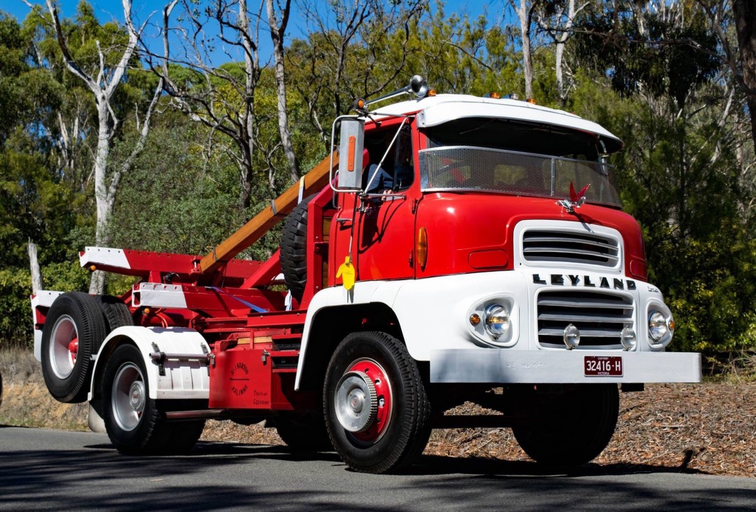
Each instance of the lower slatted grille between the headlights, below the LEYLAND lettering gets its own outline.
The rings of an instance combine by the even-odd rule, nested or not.
[[[621,350],[622,329],[633,326],[633,298],[595,291],[543,291],[538,295],[538,343],[564,348],[567,325],[580,329],[578,349]],[[576,350],[578,350],[576,349]]]

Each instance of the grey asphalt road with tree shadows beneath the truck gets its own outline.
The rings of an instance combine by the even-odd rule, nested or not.
[[[0,426],[0,510],[754,510],[756,479],[588,464],[423,457],[399,475],[332,453],[199,443],[192,455],[119,455],[107,436]]]

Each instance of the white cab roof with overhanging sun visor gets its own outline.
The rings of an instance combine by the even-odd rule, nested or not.
[[[412,113],[417,113],[419,128],[442,125],[445,122],[466,117],[516,119],[587,131],[603,140],[609,153],[618,151],[622,147],[622,142],[618,137],[595,122],[563,110],[550,109],[527,101],[497,100],[469,94],[438,94],[419,100],[401,101],[392,105],[380,106],[371,112],[371,115],[377,118]]]

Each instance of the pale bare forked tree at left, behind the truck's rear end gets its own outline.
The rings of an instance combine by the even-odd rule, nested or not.
[[[116,118],[115,113],[113,112],[110,100],[113,98],[113,94],[115,94],[118,86],[122,83],[126,68],[129,66],[129,61],[134,55],[144,25],[141,26],[141,29],[135,28],[132,23],[131,0],[122,0],[126,29],[129,32],[129,42],[126,43],[119,62],[113,68],[106,66],[105,55],[100,47],[100,42],[96,42],[100,57],[100,66],[97,76],[93,76],[87,74],[79,64],[76,63],[76,60],[68,49],[66,36],[60,26],[57,8],[55,8],[51,0],[46,0],[46,2],[48,11],[50,11],[53,20],[57,42],[60,46],[60,51],[63,54],[66,68],[76,76],[76,78],[82,80],[95,97],[98,113],[98,143],[95,150],[94,165],[95,203],[97,211],[95,245],[107,247],[110,243],[110,214],[112,214],[113,205],[116,202],[119,180],[124,172],[129,171],[135,156],[137,156],[138,153],[141,153],[141,150],[144,149],[144,139],[147,137],[150,130],[150,117],[157,103],[158,97],[160,97],[163,83],[160,82],[156,88],[155,94],[153,94],[153,99],[150,102],[150,106],[148,107],[147,113],[142,122],[142,128],[139,134],[140,138],[129,158],[127,158],[118,168],[110,168],[110,148],[113,143],[113,135],[116,133],[116,128],[118,128],[119,125],[119,119]],[[89,293],[102,294],[104,293],[104,288],[104,273],[100,271],[93,273],[89,284]]]

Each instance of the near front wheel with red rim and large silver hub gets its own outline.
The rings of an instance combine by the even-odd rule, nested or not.
[[[430,435],[430,403],[417,365],[385,332],[352,333],[336,347],[326,372],[324,413],[336,452],[362,473],[412,464]]]

